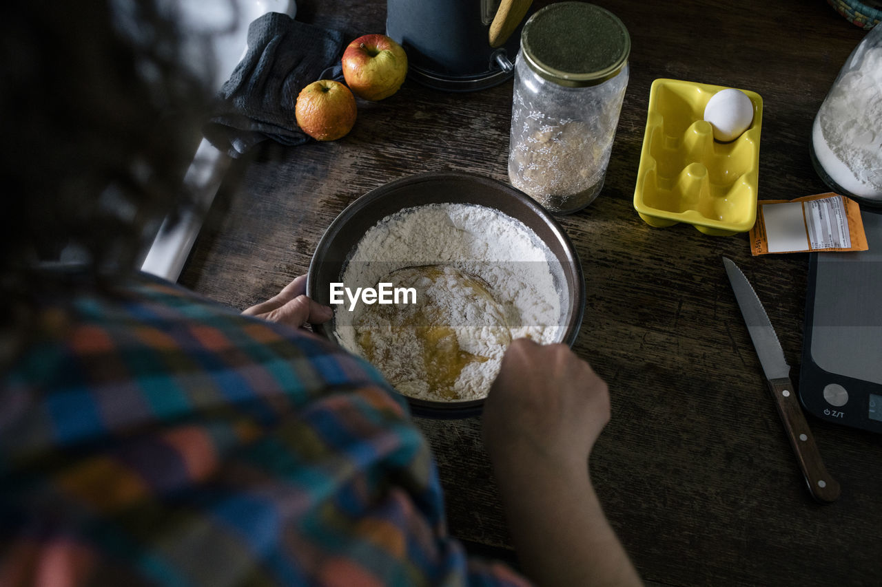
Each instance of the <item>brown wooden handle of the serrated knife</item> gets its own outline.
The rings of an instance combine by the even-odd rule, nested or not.
[[[821,453],[799,406],[793,383],[790,383],[789,377],[773,379],[769,381],[769,390],[772,391],[775,406],[790,439],[790,446],[793,447],[799,467],[803,470],[812,497],[818,502],[835,502],[840,494],[839,483],[826,471]]]

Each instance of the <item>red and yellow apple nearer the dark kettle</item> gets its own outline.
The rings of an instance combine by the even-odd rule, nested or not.
[[[383,100],[407,76],[407,53],[385,34],[365,34],[349,43],[343,52],[343,78],[355,95],[365,100]]]

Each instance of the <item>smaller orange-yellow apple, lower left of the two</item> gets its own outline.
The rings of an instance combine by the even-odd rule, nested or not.
[[[355,124],[355,96],[338,81],[319,79],[300,91],[294,114],[297,125],[310,137],[333,141]]]

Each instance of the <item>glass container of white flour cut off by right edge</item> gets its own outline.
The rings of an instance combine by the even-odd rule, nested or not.
[[[811,163],[836,193],[882,206],[882,26],[858,43],[818,108]]]

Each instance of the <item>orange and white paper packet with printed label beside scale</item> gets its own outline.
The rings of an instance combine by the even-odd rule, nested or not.
[[[751,228],[751,253],[866,250],[861,207],[828,192],[793,200],[761,200]]]

